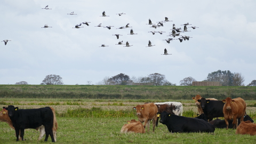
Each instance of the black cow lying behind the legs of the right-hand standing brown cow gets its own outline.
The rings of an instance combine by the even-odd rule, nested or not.
[[[216,127],[216,128],[220,128],[220,129],[223,129],[223,128],[226,128],[227,127],[227,125],[226,125],[226,122],[225,122],[225,119],[219,119],[218,121],[216,121],[217,119],[215,119],[214,121],[211,121],[211,122],[209,122],[209,123],[211,123],[211,124],[213,124],[213,126],[214,127]],[[246,122],[246,121],[251,121],[252,123],[254,122],[253,120],[252,120],[252,118],[249,116],[249,115],[245,115],[244,116],[244,122]],[[233,128],[233,119],[231,119],[231,120],[229,120],[228,121],[228,128],[229,129],[232,129]],[[238,125],[240,124],[240,118],[238,118]]]

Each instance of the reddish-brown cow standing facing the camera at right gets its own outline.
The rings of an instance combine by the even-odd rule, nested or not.
[[[226,129],[228,129],[228,121],[233,119],[233,129],[237,127],[237,118],[240,118],[240,121],[244,121],[244,115],[246,110],[246,103],[242,98],[226,98],[222,100],[225,103],[223,106],[223,114],[226,122]]]

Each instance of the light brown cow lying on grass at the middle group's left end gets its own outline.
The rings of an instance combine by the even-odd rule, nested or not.
[[[128,124],[124,124],[121,129],[122,133],[126,132],[134,132],[134,133],[145,133],[145,129],[143,124],[140,121],[135,121],[132,119],[131,121],[127,121]]]

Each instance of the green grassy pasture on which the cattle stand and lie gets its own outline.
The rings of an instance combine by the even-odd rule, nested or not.
[[[155,102],[157,100],[150,100]],[[195,117],[197,109],[193,100],[179,101],[183,105],[183,116]],[[53,107],[57,111],[58,143],[255,143],[255,136],[236,135],[233,129],[216,129],[209,133],[169,133],[167,127],[159,123],[155,133],[144,134],[120,133],[126,121],[138,119],[133,106],[141,105],[148,100],[99,100],[99,99],[11,99],[0,98],[0,106],[14,105],[19,108]],[[246,101],[254,105],[256,101]],[[87,115],[88,114],[88,115]],[[256,121],[256,108],[247,107],[249,114]],[[15,134],[9,125],[0,122],[1,143],[15,142]],[[26,130],[26,141],[17,143],[51,143],[37,141],[39,132]]]

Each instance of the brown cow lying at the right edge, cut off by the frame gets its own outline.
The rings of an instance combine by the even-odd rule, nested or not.
[[[256,135],[256,124],[251,121],[243,121],[237,126],[236,134]]]

